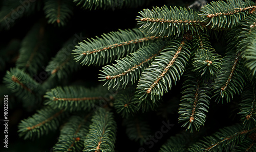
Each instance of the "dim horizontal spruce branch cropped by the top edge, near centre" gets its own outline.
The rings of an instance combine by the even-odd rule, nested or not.
[[[92,1],[87,1],[87,0],[73,0],[74,3],[77,5],[81,5],[82,8],[84,9],[114,9],[114,8],[123,8],[123,7],[138,7],[144,5],[147,1],[146,0],[92,0]]]

